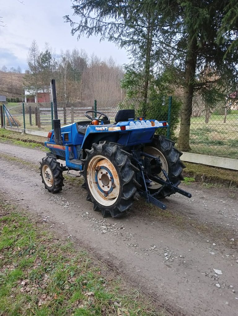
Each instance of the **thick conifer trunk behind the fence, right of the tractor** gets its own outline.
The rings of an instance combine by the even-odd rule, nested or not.
[[[178,149],[181,151],[189,151],[189,133],[190,122],[192,115],[192,98],[194,91],[194,79],[197,64],[197,39],[194,38],[190,47],[188,47],[188,57],[185,68],[185,87],[184,87],[184,101],[181,108],[180,133],[178,141]]]

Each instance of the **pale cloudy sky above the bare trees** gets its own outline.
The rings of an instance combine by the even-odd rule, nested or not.
[[[21,66],[27,68],[26,56],[32,40],[36,40],[40,50],[45,42],[59,53],[63,50],[84,48],[101,58],[113,56],[119,64],[128,62],[126,51],[118,49],[115,44],[101,42],[99,38],[81,38],[72,36],[70,24],[65,23],[63,16],[72,16],[71,0],[0,0],[0,16],[6,27],[0,27],[0,68]],[[74,17],[78,19],[78,17]],[[3,24],[3,23],[2,23]]]

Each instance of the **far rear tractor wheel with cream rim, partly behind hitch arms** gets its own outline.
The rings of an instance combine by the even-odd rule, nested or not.
[[[183,180],[182,171],[185,165],[180,161],[182,153],[174,148],[174,142],[165,138],[165,136],[155,135],[152,143],[144,147],[144,152],[156,157],[160,156],[162,168],[168,174],[168,179],[173,182],[175,186],[180,185],[181,180]],[[166,180],[162,171],[156,175]],[[158,191],[158,194],[155,195],[156,198],[168,197],[174,193],[170,188],[156,183],[155,181],[150,183],[148,189],[151,194]]]

